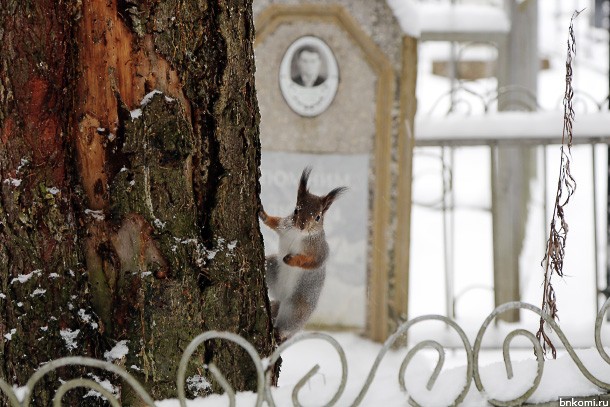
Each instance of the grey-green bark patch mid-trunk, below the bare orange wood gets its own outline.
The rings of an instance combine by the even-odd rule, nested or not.
[[[111,181],[110,213],[119,224],[130,214],[142,216],[169,274],[180,276],[196,266],[193,248],[176,244],[197,236],[190,178],[194,136],[178,102],[160,92],[146,102],[124,124],[126,164]]]

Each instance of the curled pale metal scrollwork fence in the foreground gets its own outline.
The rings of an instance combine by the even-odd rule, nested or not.
[[[466,394],[468,393],[468,391],[470,389],[473,379],[474,379],[476,389],[482,395],[485,396],[485,399],[487,400],[488,403],[490,403],[494,406],[517,406],[517,405],[524,404],[528,400],[528,398],[534,393],[536,388],[539,386],[540,380],[542,378],[542,372],[543,372],[544,366],[545,366],[545,360],[544,360],[544,355],[542,352],[541,345],[536,340],[534,334],[532,334],[531,332],[524,330],[524,329],[515,329],[512,332],[510,332],[504,339],[502,351],[503,351],[503,357],[504,357],[504,364],[505,364],[505,368],[506,368],[506,375],[507,375],[508,379],[512,379],[513,374],[514,374],[513,365],[511,363],[511,358],[510,358],[510,351],[509,351],[511,342],[516,337],[521,336],[521,337],[525,337],[526,339],[528,339],[532,343],[532,346],[534,347],[534,355],[535,355],[536,361],[537,361],[536,377],[533,379],[533,382],[532,382],[531,386],[529,387],[529,389],[527,389],[519,397],[516,397],[512,400],[499,400],[499,399],[493,398],[493,396],[487,394],[487,392],[484,388],[483,382],[481,381],[481,374],[479,371],[479,352],[481,350],[481,343],[482,343],[483,336],[485,335],[487,328],[489,327],[491,322],[496,318],[496,316],[498,316],[499,314],[501,314],[503,312],[513,310],[513,309],[528,310],[528,311],[534,312],[535,314],[541,316],[547,322],[547,324],[552,328],[552,330],[556,333],[557,337],[559,338],[559,340],[565,347],[568,355],[574,361],[574,363],[576,364],[576,366],[578,367],[578,369],[580,370],[582,375],[595,386],[610,393],[610,383],[604,382],[604,381],[596,378],[584,366],[581,359],[577,356],[573,347],[570,345],[568,339],[563,334],[559,325],[557,325],[557,323],[550,316],[543,313],[539,308],[537,308],[533,305],[523,303],[523,302],[510,302],[510,303],[506,303],[504,305],[497,307],[485,319],[485,321],[483,322],[483,324],[481,325],[481,327],[478,331],[478,334],[476,336],[473,346],[470,345],[470,342],[469,342],[466,334],[464,333],[463,329],[456,322],[454,322],[453,320],[451,320],[445,316],[424,315],[424,316],[420,316],[420,317],[414,318],[412,320],[409,320],[409,321],[403,323],[396,330],[396,332],[388,338],[388,340],[385,342],[384,346],[381,348],[381,350],[378,353],[377,358],[375,359],[375,362],[373,363],[373,366],[371,367],[371,370],[367,376],[366,382],[364,383],[363,387],[361,388],[361,390],[358,393],[355,400],[353,402],[351,402],[351,404],[349,404],[349,405],[351,405],[351,406],[362,405],[362,401],[369,390],[369,387],[373,381],[373,378],[375,377],[375,374],[377,373],[377,370],[379,368],[379,365],[380,365],[382,359],[384,358],[385,354],[390,350],[390,348],[395,345],[396,341],[399,338],[401,338],[404,334],[406,334],[406,332],[413,325],[419,324],[420,322],[423,322],[423,321],[430,321],[430,320],[442,321],[442,322],[446,323],[448,327],[452,328],[461,338],[463,346],[464,346],[464,351],[466,353],[467,366],[466,366],[465,384],[464,384],[462,390],[460,391],[460,393],[457,396],[455,396],[454,400],[451,402],[451,405],[458,405],[464,400],[464,398],[466,397]],[[599,355],[601,356],[601,358],[605,361],[605,363],[607,363],[610,366],[610,356],[608,355],[606,350],[603,348],[602,340],[601,340],[602,323],[604,320],[604,316],[608,312],[609,309],[610,309],[610,299],[606,300],[606,302],[604,303],[604,305],[598,312],[597,319],[595,321],[595,346],[596,346],[597,351],[599,352]],[[282,354],[282,352],[286,348],[292,346],[296,342],[300,342],[300,341],[304,341],[304,340],[308,340],[308,339],[321,339],[321,340],[328,342],[336,350],[336,352],[340,358],[340,361],[341,361],[341,368],[342,368],[341,382],[340,382],[334,396],[326,405],[327,406],[336,405],[345,390],[345,386],[346,386],[346,382],[347,382],[347,375],[348,375],[348,366],[347,366],[347,359],[345,357],[345,352],[342,349],[342,347],[339,345],[337,340],[335,340],[333,337],[331,337],[327,334],[315,333],[315,332],[300,334],[300,335],[288,340],[287,342],[283,343],[281,346],[279,346],[275,350],[275,352],[271,355],[271,357],[269,359],[266,359],[265,361],[263,361],[263,359],[261,359],[261,357],[258,355],[257,351],[254,349],[254,347],[249,342],[247,342],[245,339],[243,339],[242,337],[232,334],[232,333],[228,333],[228,332],[209,331],[209,332],[205,332],[205,333],[199,335],[198,337],[196,337],[186,348],[186,350],[184,351],[184,354],[182,356],[182,359],[180,360],[180,365],[178,368],[178,374],[177,374],[177,380],[176,380],[176,386],[177,386],[178,402],[181,407],[186,407],[185,381],[186,381],[186,368],[187,368],[188,361],[190,360],[193,353],[197,350],[197,348],[201,344],[203,344],[205,341],[210,340],[210,339],[223,339],[223,340],[234,342],[234,343],[238,344],[239,346],[241,346],[243,349],[245,349],[246,352],[248,352],[248,354],[251,356],[252,362],[254,363],[254,366],[256,368],[257,378],[258,378],[258,385],[257,385],[257,392],[256,392],[257,398],[256,398],[255,406],[261,406],[265,402],[267,403],[267,405],[269,405],[271,407],[276,406],[276,402],[274,400],[274,396],[271,391],[271,389],[272,389],[271,369],[272,369],[273,365],[275,364],[275,362],[280,357],[280,355]],[[434,389],[434,385],[443,368],[443,364],[444,364],[444,360],[445,360],[445,350],[444,350],[443,346],[434,340],[426,340],[426,341],[419,342],[418,344],[413,346],[408,351],[408,353],[406,354],[406,356],[400,366],[399,372],[398,372],[399,386],[400,386],[400,389],[405,393],[406,393],[405,372],[406,372],[407,366],[408,366],[409,362],[412,360],[413,356],[424,348],[433,349],[438,353],[438,362],[437,362],[436,367],[435,367],[432,375],[430,376],[427,386],[426,386],[428,390]],[[45,364],[44,366],[42,366],[38,371],[36,371],[32,375],[32,377],[27,382],[25,387],[20,389],[21,390],[20,397],[17,396],[17,393],[15,392],[15,389],[13,387],[11,387],[7,382],[5,382],[4,380],[1,380],[1,379],[0,379],[0,390],[8,398],[8,401],[12,407],[28,407],[31,402],[30,399],[31,399],[31,395],[32,395],[32,390],[36,386],[36,383],[42,377],[44,377],[47,373],[54,371],[60,367],[67,366],[67,365],[80,365],[80,366],[99,368],[99,369],[106,370],[110,373],[113,373],[113,374],[117,375],[118,377],[120,377],[126,385],[131,386],[135,390],[135,392],[137,394],[139,394],[140,397],[142,397],[142,400],[145,403],[147,403],[148,405],[151,405],[151,406],[155,405],[154,400],[146,392],[144,387],[122,367],[114,365],[110,362],[101,361],[101,360],[92,359],[92,358],[78,357],[78,356],[57,359],[57,360],[51,361],[51,362]],[[226,394],[229,397],[229,405],[234,406],[236,395],[235,395],[235,392],[232,389],[231,385],[227,382],[227,380],[222,375],[222,373],[220,372],[218,367],[215,366],[213,363],[210,363],[206,367],[207,367],[207,369],[210,370],[210,373],[218,381],[220,386],[225,390]],[[303,386],[308,383],[309,379],[317,373],[318,370],[319,370],[319,365],[314,366],[295,385],[295,387],[292,391],[292,403],[294,406],[301,406],[301,403],[299,401],[299,392],[303,388]],[[88,388],[88,389],[94,390],[96,392],[99,392],[103,397],[105,397],[109,401],[109,403],[113,407],[120,406],[120,401],[116,398],[116,396],[114,394],[112,394],[107,389],[102,387],[99,383],[96,383],[93,380],[84,379],[84,378],[76,378],[76,379],[72,379],[72,380],[62,383],[62,385],[58,388],[58,390],[55,393],[54,400],[53,400],[53,406],[54,407],[61,406],[62,405],[61,400],[62,400],[63,396],[70,390],[77,388],[77,387]],[[438,392],[443,391],[443,389],[438,389],[438,388],[436,388],[435,390]],[[604,398],[604,400],[605,400],[605,398]],[[417,400],[414,400],[412,397],[409,397],[409,403],[411,405],[417,406],[417,405],[420,405],[419,404],[420,402],[422,402],[422,401],[420,400],[418,402]],[[605,403],[605,401],[604,401],[604,403]],[[344,401],[342,401],[342,405],[345,405]]]

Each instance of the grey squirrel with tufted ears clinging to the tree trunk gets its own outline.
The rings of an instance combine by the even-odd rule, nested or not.
[[[328,258],[324,215],[347,189],[339,187],[324,196],[314,195],[307,188],[310,173],[307,167],[301,174],[292,214],[280,218],[267,215],[262,208],[259,212],[265,225],[280,237],[278,254],[267,257],[266,281],[273,325],[281,340],[302,329],[316,308]]]

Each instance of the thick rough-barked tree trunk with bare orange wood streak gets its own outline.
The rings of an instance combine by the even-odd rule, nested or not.
[[[0,21],[0,377],[126,339],[166,398],[204,330],[269,354],[250,1],[3,0]],[[239,348],[212,360],[255,387]]]

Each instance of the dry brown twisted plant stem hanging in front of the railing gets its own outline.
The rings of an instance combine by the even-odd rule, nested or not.
[[[575,11],[570,20],[568,37],[568,55],[566,57],[566,89],[563,97],[563,134],[561,137],[561,167],[559,169],[559,180],[557,181],[557,194],[555,195],[555,206],[553,208],[553,218],[551,219],[551,230],[547,240],[546,253],[542,259],[544,268],[544,288],[542,293],[542,311],[549,314],[553,319],[558,320],[557,300],[555,290],[551,283],[553,274],[563,277],[563,259],[565,256],[566,237],[568,234],[568,224],[565,220],[563,208],[570,201],[570,197],[576,190],[576,181],[570,173],[570,157],[572,150],[572,123],[574,122],[574,108],[572,98],[572,56],[576,54],[576,39],[574,37],[574,19],[582,12]],[[567,146],[567,152],[565,147]],[[557,357],[557,350],[544,331],[544,319],[540,318],[540,328],[536,333],[536,338],[540,341],[542,349],[546,354],[551,351],[553,359]]]

